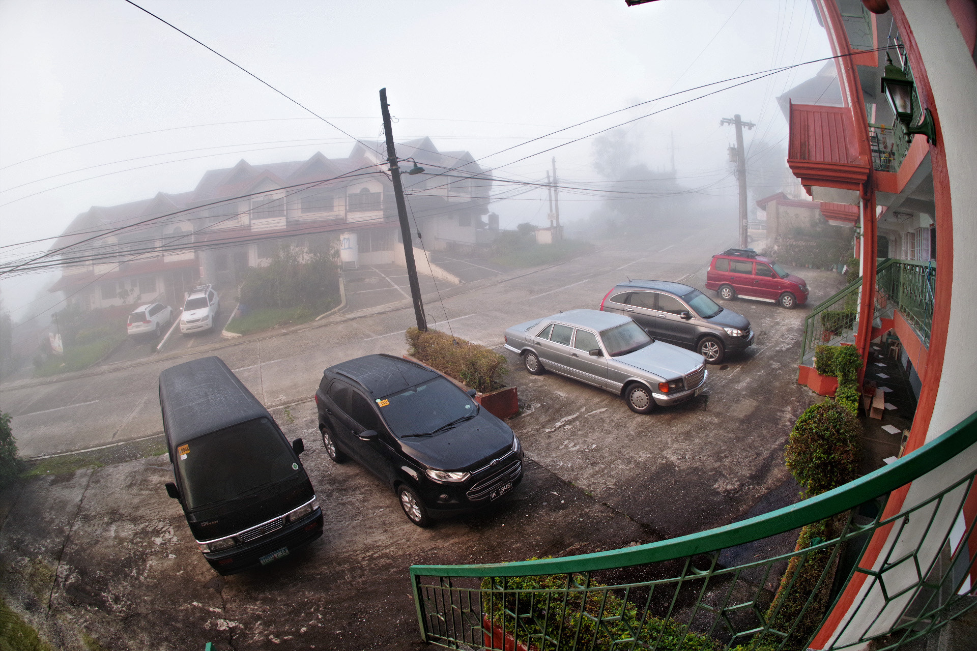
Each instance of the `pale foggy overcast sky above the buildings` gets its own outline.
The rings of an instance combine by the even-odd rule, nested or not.
[[[595,181],[592,139],[511,163],[722,86],[490,154],[635,102],[830,55],[808,0],[139,4],[358,138],[380,135],[377,93],[386,87],[398,140],[430,136],[443,150],[485,157],[501,176],[532,180],[555,155],[562,179]],[[774,98],[822,65],[664,110],[628,133],[658,169],[669,165],[674,134],[680,183],[728,195],[735,213],[726,152],[735,137],[720,118],[755,122],[747,144],[782,141]],[[241,158],[346,156],[352,146],[124,0],[0,0],[0,90],[0,245],[57,235],[93,205],[190,190],[206,170]],[[565,221],[596,207],[567,199]],[[543,200],[537,191],[492,210],[503,227],[542,224]],[[28,302],[39,280],[2,281],[4,306]]]

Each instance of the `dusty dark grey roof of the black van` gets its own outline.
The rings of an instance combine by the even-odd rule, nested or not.
[[[272,415],[220,357],[203,357],[159,374],[159,405],[174,446],[218,429]]]

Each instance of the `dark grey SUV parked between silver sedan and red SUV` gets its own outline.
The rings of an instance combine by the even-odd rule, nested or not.
[[[649,335],[693,348],[710,364],[753,344],[749,319],[717,305],[695,287],[664,280],[629,280],[605,295],[601,309],[630,316]]]

